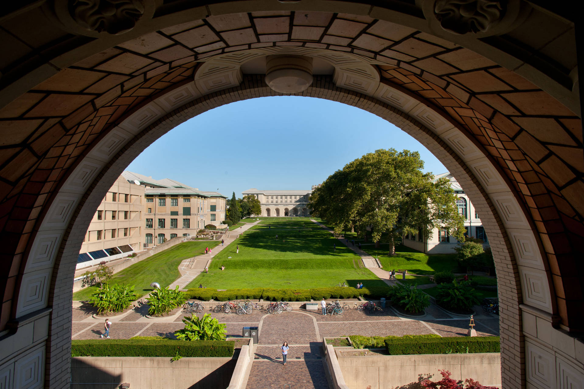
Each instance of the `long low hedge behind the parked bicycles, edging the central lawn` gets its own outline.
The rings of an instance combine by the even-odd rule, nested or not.
[[[263,298],[266,301],[310,301],[321,300],[324,298],[357,298],[364,296],[366,298],[387,297],[389,287],[371,287],[356,289],[353,287],[332,287],[316,289],[273,289],[273,288],[254,288],[254,289],[228,289],[217,291],[215,289],[193,288],[187,290],[187,298],[196,300],[242,300]]]

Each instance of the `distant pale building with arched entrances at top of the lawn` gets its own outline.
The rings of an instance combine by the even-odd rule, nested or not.
[[[259,190],[241,192],[244,196],[252,194],[262,206],[260,216],[310,216],[308,200],[312,190]]]

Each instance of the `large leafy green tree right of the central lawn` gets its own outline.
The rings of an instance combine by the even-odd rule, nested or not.
[[[426,239],[434,229],[446,228],[462,240],[464,218],[449,181],[434,181],[423,167],[418,152],[389,149],[363,155],[312,192],[311,214],[328,221],[337,234],[354,228],[364,236],[369,229],[377,245],[387,235],[390,255],[402,237],[420,229]]]

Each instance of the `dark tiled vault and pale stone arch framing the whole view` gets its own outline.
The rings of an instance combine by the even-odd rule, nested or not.
[[[493,251],[502,387],[582,387],[580,6],[3,2],[3,382],[70,386],[79,248],[103,197],[140,152],[215,107],[296,95],[366,110],[440,159],[472,199]],[[280,88],[288,70],[303,88]],[[274,125],[274,140],[289,135]],[[214,163],[193,160],[201,169]]]

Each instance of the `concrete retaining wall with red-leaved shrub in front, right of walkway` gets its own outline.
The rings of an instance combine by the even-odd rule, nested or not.
[[[339,352],[335,350],[335,359],[342,371],[342,380],[333,378],[333,381],[346,383],[349,389],[368,385],[371,389],[402,387],[417,383],[419,374],[427,373],[434,375],[432,381],[439,381],[442,379],[439,369],[450,371],[454,380],[472,378],[482,385],[501,387],[500,353],[340,356]],[[329,355],[327,353],[327,359]],[[329,369],[331,374],[335,372],[331,363]],[[339,387],[342,388],[336,386]]]

